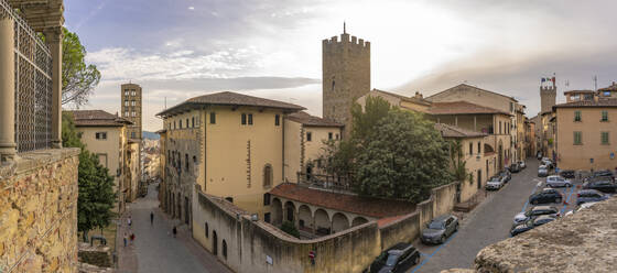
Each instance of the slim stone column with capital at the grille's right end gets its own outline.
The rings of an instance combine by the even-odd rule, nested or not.
[[[62,26],[44,31],[52,53],[52,146],[62,148]]]

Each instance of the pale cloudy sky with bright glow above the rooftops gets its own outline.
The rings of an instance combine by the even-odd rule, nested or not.
[[[564,90],[617,80],[617,1],[65,0],[101,80],[80,109],[120,109],[143,88],[143,129],[191,97],[230,90],[322,113],[322,40],[371,42],[371,88],[424,96],[466,83],[540,110],[542,77]]]

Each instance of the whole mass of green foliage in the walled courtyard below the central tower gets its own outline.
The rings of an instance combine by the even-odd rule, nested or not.
[[[350,175],[356,193],[421,201],[431,188],[452,182],[451,143],[422,114],[367,97],[351,117],[350,138],[327,142],[322,162],[328,174]]]

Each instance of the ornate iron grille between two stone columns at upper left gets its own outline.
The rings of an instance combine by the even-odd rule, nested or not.
[[[4,0],[0,0],[0,13],[14,22],[18,152],[47,149],[52,141],[52,54]]]

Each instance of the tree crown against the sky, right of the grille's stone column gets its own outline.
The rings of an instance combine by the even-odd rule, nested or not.
[[[86,47],[76,33],[64,29],[62,41],[62,103],[83,106],[100,80],[100,72],[86,65]]]

